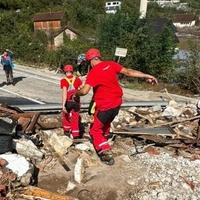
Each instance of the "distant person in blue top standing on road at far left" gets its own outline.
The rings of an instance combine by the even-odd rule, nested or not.
[[[3,65],[3,70],[5,71],[6,75],[6,84],[12,84],[14,85],[13,82],[13,53],[6,49],[1,56],[1,64]]]

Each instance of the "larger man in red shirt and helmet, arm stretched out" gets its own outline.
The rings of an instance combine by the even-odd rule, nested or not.
[[[154,76],[125,68],[114,61],[101,60],[98,49],[89,49],[86,53],[86,60],[90,62],[92,69],[87,75],[84,86],[76,92],[75,96],[86,95],[93,88],[92,100],[96,106],[94,121],[90,127],[90,136],[101,161],[112,165],[114,164],[114,158],[111,146],[108,144],[108,136],[110,124],[119,112],[123,95],[118,81],[118,74],[144,78],[151,84],[157,84],[158,81]]]

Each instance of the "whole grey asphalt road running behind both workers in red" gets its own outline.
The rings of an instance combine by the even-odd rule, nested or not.
[[[63,74],[56,74],[55,71],[46,69],[35,69],[17,65],[14,69],[13,85],[5,84],[5,74],[0,66],[0,103],[9,105],[28,104],[61,104],[62,90],[59,81]],[[90,94],[81,97],[81,102],[90,102]],[[194,99],[171,95],[175,100],[191,101]],[[154,101],[169,100],[168,95],[152,91],[136,91],[124,89],[124,101]]]

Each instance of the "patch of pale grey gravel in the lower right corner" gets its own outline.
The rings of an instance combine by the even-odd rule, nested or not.
[[[146,167],[144,176],[135,180],[142,184],[137,198],[140,200],[197,200],[200,199],[200,160],[190,161],[172,157],[168,153],[138,154],[133,161]],[[145,181],[142,181],[145,180]],[[129,181],[128,184],[133,184]]]

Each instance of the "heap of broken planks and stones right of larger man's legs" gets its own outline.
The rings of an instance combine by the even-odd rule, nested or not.
[[[126,135],[154,143],[187,149],[197,153],[199,145],[200,109],[194,104],[170,101],[166,108],[160,106],[121,110],[113,122],[115,134]],[[193,150],[190,148],[194,147]]]

